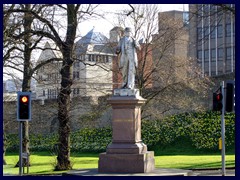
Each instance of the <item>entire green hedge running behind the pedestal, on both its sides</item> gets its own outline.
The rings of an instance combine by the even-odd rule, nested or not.
[[[235,144],[235,114],[225,115],[226,147]],[[165,146],[179,138],[187,138],[196,149],[216,150],[221,137],[221,118],[216,112],[183,113],[161,120],[142,120],[142,140],[149,147]],[[17,134],[8,134],[7,151],[18,151]],[[71,151],[103,152],[112,140],[112,130],[84,128],[71,133]],[[58,141],[57,134],[30,135],[30,151],[52,151]]]

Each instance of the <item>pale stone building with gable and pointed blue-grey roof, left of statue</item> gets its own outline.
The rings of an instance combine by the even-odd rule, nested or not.
[[[109,39],[94,29],[76,42],[72,67],[71,96],[99,97],[112,91],[112,59],[114,57]],[[39,62],[56,58],[37,73],[37,99],[56,99],[61,76],[62,61],[57,51],[46,43]]]

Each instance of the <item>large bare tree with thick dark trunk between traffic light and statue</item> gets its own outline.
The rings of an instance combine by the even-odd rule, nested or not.
[[[30,5],[29,5],[30,6]],[[72,85],[72,64],[73,58],[73,47],[76,38],[78,23],[86,18],[86,16],[93,15],[94,9],[97,6],[85,4],[66,4],[66,5],[33,5],[32,8],[28,9],[9,9],[8,12],[13,13],[24,13],[27,14],[26,23],[30,23],[34,19],[34,28],[29,28],[26,25],[26,29],[20,32],[15,38],[26,39],[28,34],[31,36],[44,37],[52,40],[59,51],[62,54],[62,67],[61,67],[61,88],[58,96],[58,120],[59,120],[59,143],[58,143],[58,156],[56,170],[67,170],[71,169],[72,165],[70,162],[70,93]],[[63,20],[66,17],[65,20]],[[62,36],[62,34],[64,34]],[[30,37],[30,36],[29,36]],[[30,42],[29,44],[30,45]],[[24,54],[24,57],[28,57]],[[49,59],[44,63],[51,62],[54,59]],[[25,62],[25,65],[30,68],[31,63]],[[30,71],[39,69],[44,64],[36,64],[35,68]],[[28,69],[24,69],[24,77],[29,74],[25,74],[25,71],[29,72]],[[24,81],[23,84],[26,85]]]

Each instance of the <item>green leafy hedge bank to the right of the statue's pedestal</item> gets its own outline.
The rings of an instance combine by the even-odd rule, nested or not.
[[[153,138],[155,137],[155,138]],[[183,113],[163,120],[143,120],[142,139],[148,146],[166,146],[179,138],[187,138],[196,149],[218,148],[221,117],[217,112]],[[235,144],[235,114],[225,115],[225,145]]]

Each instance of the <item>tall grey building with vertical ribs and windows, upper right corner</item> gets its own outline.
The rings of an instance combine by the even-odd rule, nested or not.
[[[225,7],[234,9],[235,5]],[[235,73],[235,14],[217,5],[190,4],[189,56],[202,76]]]

